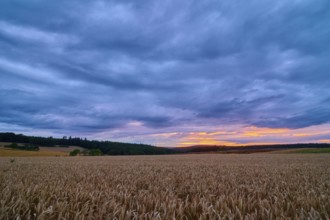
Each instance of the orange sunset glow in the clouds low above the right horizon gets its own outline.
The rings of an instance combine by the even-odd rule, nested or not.
[[[236,127],[235,131],[200,131],[180,133],[175,136],[176,145],[184,147],[191,145],[268,145],[298,142],[330,143],[330,140],[318,140],[317,135],[330,134],[327,126],[313,126],[301,129]],[[230,128],[233,130],[233,128]],[[236,141],[237,140],[237,141]],[[267,141],[269,140],[269,141]]]

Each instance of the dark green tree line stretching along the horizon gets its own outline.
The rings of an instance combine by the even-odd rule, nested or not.
[[[48,147],[69,147],[79,146],[85,149],[82,152],[73,152],[74,155],[160,155],[160,154],[186,154],[186,153],[230,153],[230,152],[254,152],[254,151],[272,151],[280,149],[297,149],[297,148],[330,148],[328,143],[303,143],[303,144],[279,144],[279,145],[250,145],[237,146],[235,148],[229,146],[203,146],[196,145],[184,148],[162,148],[147,144],[132,144],[112,141],[96,141],[87,140],[86,138],[67,137],[36,137],[26,136],[23,134],[15,134],[11,132],[0,133],[0,142],[19,143],[20,145],[11,146],[12,148],[24,147],[27,150],[38,150],[37,146]],[[23,146],[22,146],[23,144]]]

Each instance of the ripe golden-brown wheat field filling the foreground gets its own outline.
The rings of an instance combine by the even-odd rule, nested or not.
[[[0,219],[329,219],[329,154],[0,158]]]

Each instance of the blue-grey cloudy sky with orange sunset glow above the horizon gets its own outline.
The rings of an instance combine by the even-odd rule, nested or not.
[[[329,0],[1,0],[0,131],[330,142]]]

